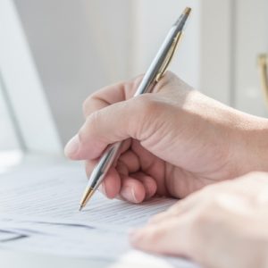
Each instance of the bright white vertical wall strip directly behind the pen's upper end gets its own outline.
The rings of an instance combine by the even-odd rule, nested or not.
[[[200,1],[136,0],[133,4],[134,48],[132,72],[147,70],[163,38],[186,6],[192,8],[184,38],[172,61],[171,70],[195,88],[199,88]]]

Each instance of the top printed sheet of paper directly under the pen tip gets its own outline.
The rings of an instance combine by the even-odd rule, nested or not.
[[[96,193],[88,206],[79,212],[80,197],[87,184],[85,178],[83,171],[73,168],[6,176],[5,186],[0,188],[0,213],[35,221],[126,228],[144,224],[150,215],[175,202],[158,198],[141,205],[130,205]]]

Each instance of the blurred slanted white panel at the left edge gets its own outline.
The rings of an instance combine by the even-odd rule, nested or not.
[[[13,1],[0,2],[0,171],[62,146]]]

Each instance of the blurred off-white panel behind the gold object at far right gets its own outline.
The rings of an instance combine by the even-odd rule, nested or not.
[[[235,0],[234,105],[243,112],[268,116],[260,90],[256,55],[268,50],[268,1]],[[257,3],[257,4],[256,4]]]

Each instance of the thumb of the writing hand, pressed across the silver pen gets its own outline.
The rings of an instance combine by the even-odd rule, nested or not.
[[[127,138],[147,139],[155,132],[156,102],[147,94],[91,113],[79,133],[65,147],[73,160],[96,159],[109,144]]]

